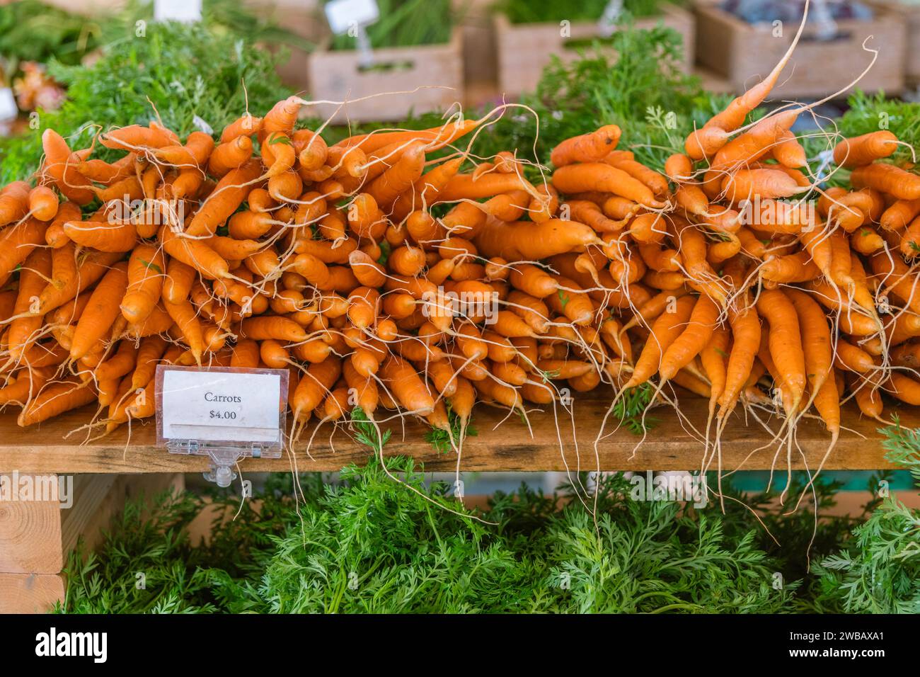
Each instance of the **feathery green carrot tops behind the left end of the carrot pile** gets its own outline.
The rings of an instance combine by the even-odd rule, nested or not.
[[[182,138],[196,129],[196,115],[219,131],[247,102],[248,110],[262,114],[290,94],[274,66],[270,53],[233,34],[176,22],[151,24],[146,37],[112,43],[90,67],[52,64],[68,97],[59,111],[40,113],[38,129],[0,141],[0,183],[26,179],[38,168],[48,128],[83,147],[100,129],[146,124],[157,113]],[[101,149],[98,157],[119,155]]]

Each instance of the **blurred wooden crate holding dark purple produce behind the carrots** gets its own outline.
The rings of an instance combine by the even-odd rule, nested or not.
[[[772,24],[752,25],[711,3],[697,2],[696,59],[742,91],[769,73],[788,50],[798,26],[782,28],[782,36],[774,37]],[[901,92],[905,28],[901,18],[885,10],[871,21],[838,21],[832,40],[819,40],[817,28],[807,25],[771,98],[821,98],[845,88],[871,62],[872,54],[862,49],[870,35],[867,46],[879,50],[879,58],[857,87]]]

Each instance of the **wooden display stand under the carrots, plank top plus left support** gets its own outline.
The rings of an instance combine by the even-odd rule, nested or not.
[[[506,412],[478,406],[474,426],[477,436],[466,438],[460,467],[464,471],[604,471],[615,470],[698,470],[704,446],[692,428],[681,425],[670,408],[658,407],[650,415],[661,422],[647,438],[621,428],[604,438],[594,452],[594,440],[610,402],[609,393],[576,393],[574,403],[576,440],[568,416],[557,424],[551,413],[532,412],[530,435],[515,414],[500,424]],[[684,395],[680,408],[689,421],[702,430],[706,403]],[[133,426],[128,443],[127,426],[101,439],[82,443],[85,433],[64,436],[83,426],[93,409],[59,416],[28,429],[16,425],[12,412],[0,414],[0,475],[75,474],[75,500],[72,508],[62,509],[48,501],[0,501],[0,613],[47,611],[63,595],[60,575],[67,552],[80,534],[98,539],[111,515],[126,497],[172,486],[181,488],[181,473],[201,472],[208,459],[201,456],[170,454],[156,445],[155,426]],[[381,417],[386,412],[381,410]],[[898,411],[904,426],[920,426],[920,412],[913,408]],[[847,406],[843,416],[849,429],[841,435],[834,453],[825,465],[834,470],[877,470],[887,467],[877,432],[880,423],[861,416]],[[776,427],[776,420],[772,421]],[[456,455],[440,453],[425,441],[424,426],[417,421],[399,420],[389,424],[392,438],[385,455],[409,455],[424,464],[426,471],[453,472]],[[498,427],[497,427],[498,426]],[[608,431],[615,420],[611,419]],[[308,438],[307,431],[304,438]],[[787,467],[786,450],[775,459],[776,445],[760,449],[767,436],[753,419],[749,425],[741,414],[732,417],[722,436],[723,470],[765,470]],[[641,441],[641,443],[640,443]],[[804,420],[799,425],[799,449],[793,452],[792,466],[815,469],[827,449],[829,436],[819,421]],[[364,463],[370,450],[339,433],[334,449],[328,444],[328,428],[315,438],[310,454],[305,442],[294,445],[292,453],[281,459],[245,459],[239,472],[338,471],[349,463]],[[712,469],[715,469],[715,464]],[[238,484],[236,484],[238,486]]]

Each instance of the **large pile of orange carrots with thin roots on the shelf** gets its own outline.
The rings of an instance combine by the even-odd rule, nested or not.
[[[663,173],[615,125],[533,182],[473,158],[485,119],[328,146],[296,97],[216,142],[111,129],[114,162],[46,131],[0,194],[0,403],[20,426],[96,403],[110,431],[155,414],[157,364],[285,368],[295,430],[357,406],[450,432],[477,401],[670,383],[707,398],[707,440],[741,402],[791,445],[813,407],[829,452],[845,399],[920,404],[920,176],[879,131],[834,146],[852,190],[825,191],[790,131],[814,104],[746,124],[794,46]]]

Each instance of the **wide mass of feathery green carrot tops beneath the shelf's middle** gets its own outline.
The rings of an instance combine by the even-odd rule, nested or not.
[[[757,547],[753,519],[629,498],[621,474],[598,485],[597,527],[585,496],[523,487],[498,494],[489,519],[426,487],[404,458],[345,468],[335,484],[276,475],[242,507],[218,495],[210,543],[181,532],[201,499],[130,508],[100,554],[67,566],[62,611],[255,613],[791,611],[795,584]],[[583,479],[583,478],[582,478]],[[418,492],[418,493],[417,493]],[[300,496],[300,495],[299,495]],[[433,501],[433,504],[432,504]],[[450,508],[448,511],[444,508]],[[236,519],[229,516],[239,511]],[[136,573],[146,589],[136,589]]]

